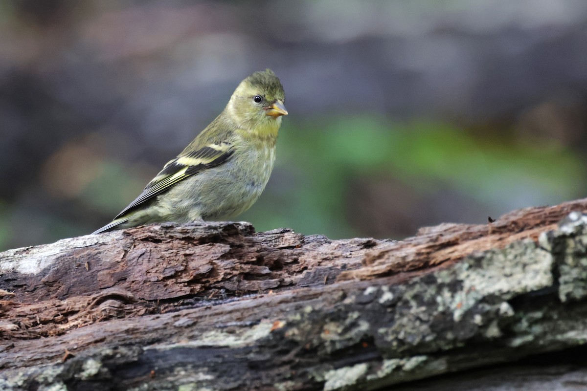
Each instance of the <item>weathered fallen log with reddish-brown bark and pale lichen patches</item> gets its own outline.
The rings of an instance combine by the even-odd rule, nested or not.
[[[0,389],[586,387],[586,210],[400,242],[205,223],[5,251]]]

